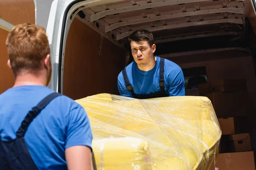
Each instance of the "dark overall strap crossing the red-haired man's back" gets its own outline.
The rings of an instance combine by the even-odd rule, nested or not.
[[[29,124],[35,119],[35,117],[56,97],[61,96],[59,93],[52,93],[46,96],[37,106],[33,107],[31,111],[26,115],[25,119],[22,121],[20,128],[18,129],[16,136],[23,137]]]

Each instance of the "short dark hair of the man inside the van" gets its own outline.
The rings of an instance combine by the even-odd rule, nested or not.
[[[147,41],[150,46],[154,44],[153,34],[145,29],[134,31],[129,37],[129,45],[131,45],[131,41],[139,42],[139,41]]]

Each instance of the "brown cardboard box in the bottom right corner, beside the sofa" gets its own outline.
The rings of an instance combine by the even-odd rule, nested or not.
[[[254,152],[220,153],[216,163],[212,162],[210,170],[255,170]]]

